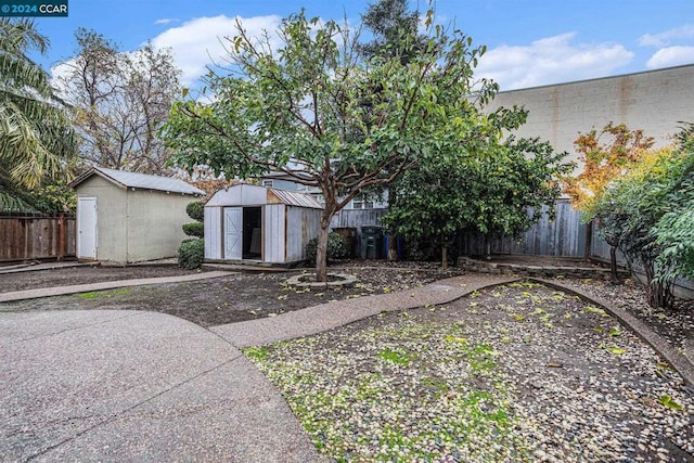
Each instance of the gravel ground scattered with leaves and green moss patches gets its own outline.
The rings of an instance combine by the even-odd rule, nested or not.
[[[534,283],[245,352],[338,461],[694,460],[681,377],[599,307]]]

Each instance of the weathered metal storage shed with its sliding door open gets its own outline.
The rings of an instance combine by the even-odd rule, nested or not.
[[[318,236],[323,206],[294,191],[241,183],[205,204],[205,259],[292,263]]]

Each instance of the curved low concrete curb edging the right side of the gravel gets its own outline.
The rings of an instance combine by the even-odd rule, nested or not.
[[[684,383],[690,388],[694,387],[694,364],[682,353],[678,352],[663,337],[654,333],[648,326],[646,326],[641,320],[633,317],[631,313],[626,312],[619,308],[614,307],[608,301],[588,295],[580,290],[570,285],[560,284],[553,281],[543,279],[529,279],[540,282],[547,286],[555,287],[566,293],[575,294],[583,299],[591,300],[596,305],[603,307],[606,312],[613,317],[619,319],[619,321],[631,330],[637,336],[650,344],[655,351],[663,357],[684,380]]]

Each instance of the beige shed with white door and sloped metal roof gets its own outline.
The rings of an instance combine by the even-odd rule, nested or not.
[[[205,195],[182,180],[94,167],[77,192],[77,258],[131,263],[175,257],[193,220],[185,206]]]

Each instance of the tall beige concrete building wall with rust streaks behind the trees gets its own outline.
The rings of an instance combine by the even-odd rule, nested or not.
[[[489,107],[514,104],[529,111],[517,136],[540,137],[574,160],[578,132],[609,121],[643,129],[664,146],[680,121],[694,123],[694,65],[500,92]]]

